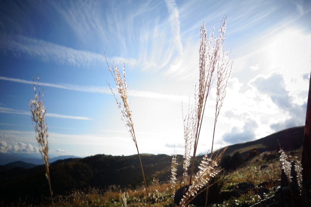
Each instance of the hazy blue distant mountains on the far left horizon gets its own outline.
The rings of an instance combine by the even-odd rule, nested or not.
[[[50,163],[55,162],[56,160],[64,160],[68,158],[78,158],[73,155],[62,155],[49,159]],[[0,153],[0,165],[6,165],[8,163],[22,161],[25,163],[40,165],[43,164],[40,154],[31,154],[31,153]]]

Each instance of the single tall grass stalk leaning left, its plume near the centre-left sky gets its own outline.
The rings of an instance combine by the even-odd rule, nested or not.
[[[148,194],[148,189],[147,189],[146,178],[145,178],[144,170],[142,167],[142,160],[141,160],[139,150],[138,150],[138,146],[137,146],[137,141],[136,141],[136,136],[135,136],[135,131],[134,131],[134,124],[133,124],[133,120],[132,120],[132,111],[130,110],[130,103],[128,101],[128,92],[127,92],[128,85],[126,83],[126,78],[125,78],[125,76],[126,76],[125,64],[123,66],[123,75],[122,75],[123,77],[122,77],[120,72],[119,72],[118,66],[116,64],[114,64],[114,62],[112,65],[112,69],[110,68],[108,61],[107,61],[106,54],[105,54],[105,59],[106,59],[107,65],[108,65],[108,69],[111,72],[112,77],[114,78],[114,82],[116,83],[116,87],[118,89],[118,93],[120,94],[120,98],[122,99],[122,103],[120,101],[118,101],[118,98],[116,97],[116,95],[114,93],[114,90],[110,87],[110,84],[108,82],[107,83],[109,85],[111,92],[114,95],[114,98],[117,102],[118,108],[121,110],[121,114],[122,114],[121,119],[123,120],[126,128],[128,129],[128,133],[131,135],[132,140],[135,143],[139,162],[140,162],[140,167],[142,170],[142,176],[144,178],[146,195],[147,195],[148,203],[149,203],[149,207],[150,207],[151,205],[150,205],[150,199],[149,199],[149,194]]]

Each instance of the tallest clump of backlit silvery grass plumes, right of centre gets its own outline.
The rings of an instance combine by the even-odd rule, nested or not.
[[[191,166],[191,173],[189,178],[189,189],[188,191],[195,191],[196,182],[200,176],[196,176],[195,180],[192,179],[193,177],[193,167],[194,161],[196,157],[196,151],[198,146],[198,140],[200,137],[200,131],[202,127],[203,115],[206,107],[207,97],[210,93],[211,86],[213,84],[213,73],[217,70],[217,86],[216,86],[216,112],[215,112],[215,120],[214,120],[214,129],[213,129],[213,139],[212,139],[212,147],[211,147],[211,155],[213,155],[213,145],[214,145],[214,137],[215,137],[215,129],[217,119],[220,113],[220,109],[223,104],[223,100],[226,95],[226,87],[228,85],[228,80],[230,78],[231,70],[232,70],[232,63],[231,66],[228,68],[227,65],[230,62],[228,52],[225,52],[224,48],[224,40],[225,40],[225,28],[226,28],[226,18],[221,21],[220,29],[218,30],[218,35],[214,38],[214,30],[210,31],[209,36],[207,37],[207,32],[205,29],[205,24],[201,26],[200,30],[200,58],[199,58],[199,83],[195,84],[195,91],[194,91],[194,104],[190,104],[188,106],[188,114],[186,116],[183,115],[183,125],[184,125],[184,139],[185,139],[185,161],[183,164],[183,183],[187,182],[187,170],[190,164],[190,151],[191,146],[193,143],[193,157],[192,157],[192,166]],[[223,152],[222,152],[223,153]],[[214,165],[214,167],[218,166],[218,161],[221,159],[222,153],[219,154],[220,157],[216,157],[216,160],[213,160],[212,156],[207,159],[205,157],[201,163],[201,168],[205,168],[206,171],[202,171],[201,173],[207,173],[207,177],[202,180],[202,185],[207,184],[207,195],[208,195],[208,180],[212,176],[213,173],[218,173],[215,171],[213,173],[209,173],[209,166],[207,165]],[[206,155],[207,156],[207,155]],[[218,160],[219,159],[219,160]],[[200,172],[200,171],[199,171]],[[185,184],[184,184],[185,185]],[[200,186],[202,187],[202,186]],[[185,189],[185,188],[184,188]],[[196,190],[199,190],[198,188]],[[189,194],[185,194],[188,195]],[[192,193],[192,195],[194,195]],[[186,197],[180,203],[180,206],[188,205],[188,201],[186,201]],[[207,198],[206,198],[206,205],[207,205]]]

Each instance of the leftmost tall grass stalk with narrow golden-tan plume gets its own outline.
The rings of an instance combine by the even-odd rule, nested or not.
[[[46,109],[44,107],[43,101],[43,90],[42,95],[40,93],[40,81],[38,75],[38,93],[36,92],[35,80],[32,77],[32,82],[34,84],[35,99],[29,101],[31,120],[35,128],[36,140],[39,144],[39,152],[41,153],[42,160],[45,166],[45,176],[49,182],[49,190],[51,196],[52,207],[53,205],[53,191],[51,188],[50,172],[49,172],[49,142],[48,142],[48,125],[45,120]]]

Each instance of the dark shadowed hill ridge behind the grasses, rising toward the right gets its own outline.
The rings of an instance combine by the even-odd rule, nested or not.
[[[304,127],[289,128],[252,142],[230,145],[224,155],[232,155],[235,152],[243,155],[253,149],[258,152],[275,151],[280,149],[279,143],[286,151],[295,150],[302,146],[303,137]],[[177,176],[180,176],[183,173],[183,155],[178,156]],[[172,156],[142,154],[141,158],[148,184],[153,177],[159,178],[160,182],[169,179]],[[194,171],[197,170],[201,158],[202,156],[197,156]],[[0,172],[1,196],[7,200],[15,200],[27,195],[32,198],[49,195],[43,165],[27,168],[27,165],[21,166],[25,163],[15,164],[18,167]],[[10,163],[8,166],[15,164]],[[50,165],[50,176],[54,195],[63,195],[72,189],[106,188],[110,185],[135,189],[143,182],[137,155],[101,154],[58,160]]]

